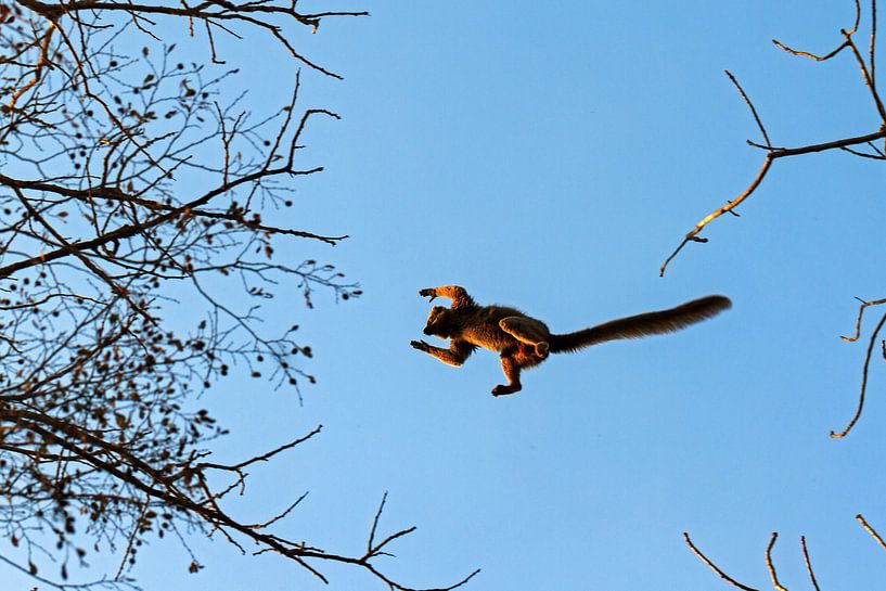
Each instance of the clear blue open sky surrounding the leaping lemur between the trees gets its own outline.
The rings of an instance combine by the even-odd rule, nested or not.
[[[323,8],[328,8],[325,3]],[[301,325],[318,376],[305,403],[257,381],[206,395],[232,435],[219,459],[252,455],[322,423],[321,436],[257,470],[232,513],[261,521],[309,490],[281,532],[359,553],[389,491],[383,527],[418,530],[383,564],[407,584],[470,590],[726,589],[682,541],[686,530],[730,575],[768,587],[763,551],[780,532],[782,582],[808,588],[806,535],[823,589],[872,588],[886,552],[853,516],[886,530],[886,371],[874,364],[849,438],[864,344],[839,334],[853,296],[886,296],[883,168],[843,154],[782,160],[741,218],[722,218],[659,279],[663,259],[736,195],[761,154],[742,81],[773,143],[876,130],[850,56],[818,65],[770,39],[826,51],[852,2],[395,2],[370,18],[326,21],[300,49],[343,74],[306,75],[295,228],[347,233],[335,248],[281,247],[362,284],[359,300],[319,295],[267,309]],[[886,42],[886,39],[884,40]],[[247,54],[252,50],[253,54]],[[258,41],[244,87],[279,105],[293,64]],[[305,73],[307,74],[307,73]],[[264,102],[267,100],[267,102]],[[453,369],[409,347],[426,286],[457,283],[567,332],[730,296],[728,313],[685,332],[555,356],[495,399],[495,354]],[[871,317],[872,320],[873,316]],[[870,331],[870,323],[868,329]],[[323,588],[270,555],[194,540],[154,543],[147,589]],[[318,565],[333,590],[383,589]],[[25,584],[25,583],[23,583]]]

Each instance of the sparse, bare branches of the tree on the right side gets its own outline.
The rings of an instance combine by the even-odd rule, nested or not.
[[[853,137],[846,137],[842,139],[835,139],[830,141],[824,141],[821,143],[810,144],[810,145],[801,145],[796,147],[786,147],[781,145],[775,145],[769,138],[769,133],[766,130],[766,127],[757,113],[754,103],[748,98],[747,93],[745,92],[744,88],[742,88],[739,80],[730,73],[727,72],[727,76],[735,86],[736,90],[741,94],[742,99],[746,103],[750,114],[754,117],[754,120],[757,124],[757,128],[762,137],[762,141],[750,141],[748,140],[748,144],[753,147],[756,147],[763,153],[762,164],[757,171],[754,179],[735,198],[727,202],[722,207],[718,208],[717,210],[710,213],[709,215],[705,216],[695,227],[683,237],[677,248],[667,257],[664,265],[659,270],[659,274],[664,275],[665,271],[668,268],[668,265],[673,260],[673,258],[683,249],[683,247],[692,242],[695,243],[705,243],[707,242],[706,237],[701,236],[699,234],[702,231],[714,220],[723,216],[724,214],[732,214],[737,216],[735,209],[742,205],[745,200],[750,197],[756,190],[760,187],[763,179],[766,178],[767,174],[772,169],[772,167],[778,163],[781,158],[786,157],[794,157],[794,156],[802,156],[806,154],[812,154],[816,152],[825,152],[825,151],[842,151],[848,153],[850,155],[862,157],[862,158],[870,158],[874,160],[886,160],[886,146],[884,146],[883,140],[886,139],[886,107],[884,107],[884,103],[881,99],[881,92],[878,90],[876,83],[876,68],[875,68],[875,56],[876,56],[876,36],[877,36],[877,15],[876,15],[876,0],[870,1],[870,34],[868,40],[866,49],[860,48],[856,42],[856,36],[859,34],[859,26],[862,24],[862,5],[860,0],[855,0],[855,21],[852,23],[851,28],[839,29],[839,42],[837,46],[832,49],[831,51],[822,54],[816,54],[807,51],[800,51],[796,49],[792,49],[786,44],[778,41],[772,40],[772,42],[780,49],[784,50],[785,52],[789,53],[791,55],[801,57],[801,59],[810,59],[817,62],[825,62],[829,60],[834,60],[838,57],[847,59],[855,67],[858,67],[860,70],[860,83],[864,85],[868,90],[868,93],[871,98],[871,106],[874,110],[875,119],[879,123],[877,129],[871,130],[869,133],[864,133],[862,136],[853,136]],[[860,299],[860,298],[859,298]],[[875,300],[863,300],[860,299],[861,306],[859,307],[858,318],[856,320],[856,330],[853,336],[843,336],[842,338],[847,342],[856,342],[859,339],[861,335],[861,320],[864,310],[870,306],[878,306],[882,304],[886,304],[886,298],[883,299],[875,299]],[[862,371],[862,381],[861,381],[861,393],[859,396],[858,408],[856,410],[855,415],[848,422],[848,424],[839,432],[831,432],[831,437],[833,438],[843,438],[845,437],[856,425],[859,417],[861,416],[861,412],[864,406],[864,394],[868,384],[868,372],[871,359],[873,357],[873,351],[877,345],[877,337],[883,329],[883,325],[886,324],[886,314],[884,314],[879,322],[876,324],[874,331],[872,332],[868,345],[868,351],[864,358],[864,365]],[[881,352],[886,360],[886,341],[881,341]],[[870,534],[874,540],[884,549],[886,550],[886,543],[884,543],[883,539],[871,527],[861,514],[856,516],[858,522],[861,526]],[[709,566],[720,578],[722,578],[726,582],[731,584],[732,587],[736,587],[739,589],[743,589],[745,591],[756,591],[755,588],[748,587],[744,583],[739,582],[737,580],[733,579],[729,575],[727,575],[720,567],[718,567],[712,561],[710,561],[705,554],[702,553],[701,550],[692,542],[690,539],[689,534],[683,534],[684,540],[689,545],[690,550],[707,566]],[[778,534],[773,532],[772,537],[769,541],[769,544],[766,549],[766,565],[769,570],[770,579],[772,587],[776,591],[785,591],[785,588],[779,581],[778,575],[775,573],[775,567],[772,561],[772,548],[775,544],[775,540],[778,538]],[[804,561],[806,563],[807,573],[809,575],[810,582],[816,591],[820,590],[819,582],[816,579],[816,575],[812,571],[812,566],[809,558],[809,553],[806,545],[806,539],[804,537],[800,538],[800,545],[802,548],[802,555]]]

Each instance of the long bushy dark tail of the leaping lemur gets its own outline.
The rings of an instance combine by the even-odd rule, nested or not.
[[[574,333],[552,334],[548,343],[551,352],[575,352],[606,341],[642,338],[652,334],[680,331],[731,307],[732,301],[728,297],[707,296],[668,310],[619,318]]]

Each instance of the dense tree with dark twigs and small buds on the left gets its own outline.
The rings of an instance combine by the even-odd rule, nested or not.
[[[264,36],[303,72],[338,78],[296,47],[328,18],[363,14],[305,13],[297,0],[0,3],[0,531],[16,547],[0,556],[8,565],[60,589],[133,586],[144,540],[178,537],[187,549],[198,530],[278,553],[323,581],[322,564],[334,562],[408,589],[374,562],[412,530],[378,535],[384,501],[355,556],[274,534],[300,499],[264,523],[226,510],[251,467],[320,427],[214,461],[208,442],[226,432],[189,410],[233,368],[296,393],[313,382],[297,326],[269,334],[261,301],[300,292],[311,306],[317,288],[360,295],[331,265],[274,258],[281,240],[346,237],[285,219],[294,183],[322,170],[303,164],[304,130],[338,115],[303,111],[298,77],[281,108],[256,115],[248,94],[232,94],[236,68],[220,39]],[[190,325],[170,321],[177,300]],[[119,568],[68,582],[69,566],[100,551],[116,552]]]

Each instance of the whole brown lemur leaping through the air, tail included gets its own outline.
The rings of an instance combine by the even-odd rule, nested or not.
[[[419,295],[448,297],[452,307],[434,306],[427,317],[424,334],[449,338],[441,349],[424,341],[412,341],[412,347],[436,357],[444,363],[461,365],[477,347],[498,351],[506,385],[492,389],[493,396],[519,391],[519,371],[538,365],[552,352],[575,352],[585,347],[618,338],[640,338],[652,334],[679,331],[716,316],[732,303],[723,296],[707,296],[682,306],[613,320],[568,334],[551,334],[540,320],[514,308],[479,306],[463,287],[429,287]]]

